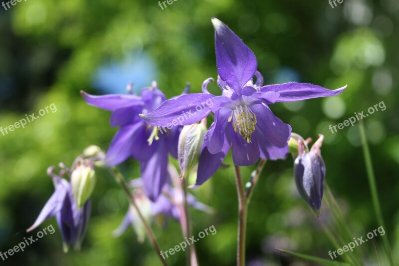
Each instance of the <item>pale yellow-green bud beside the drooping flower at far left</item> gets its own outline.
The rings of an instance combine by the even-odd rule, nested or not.
[[[82,160],[71,174],[72,193],[78,208],[82,208],[90,198],[96,185],[96,176],[93,163],[89,160]]]

